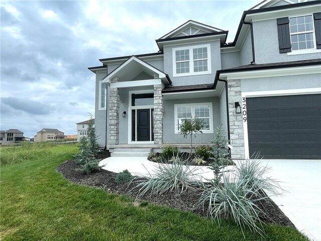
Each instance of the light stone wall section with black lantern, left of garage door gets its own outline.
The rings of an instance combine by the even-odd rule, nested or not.
[[[244,159],[244,132],[242,113],[235,113],[235,102],[242,106],[241,80],[228,80],[228,100],[229,100],[229,118],[230,118],[230,141],[232,159]]]

